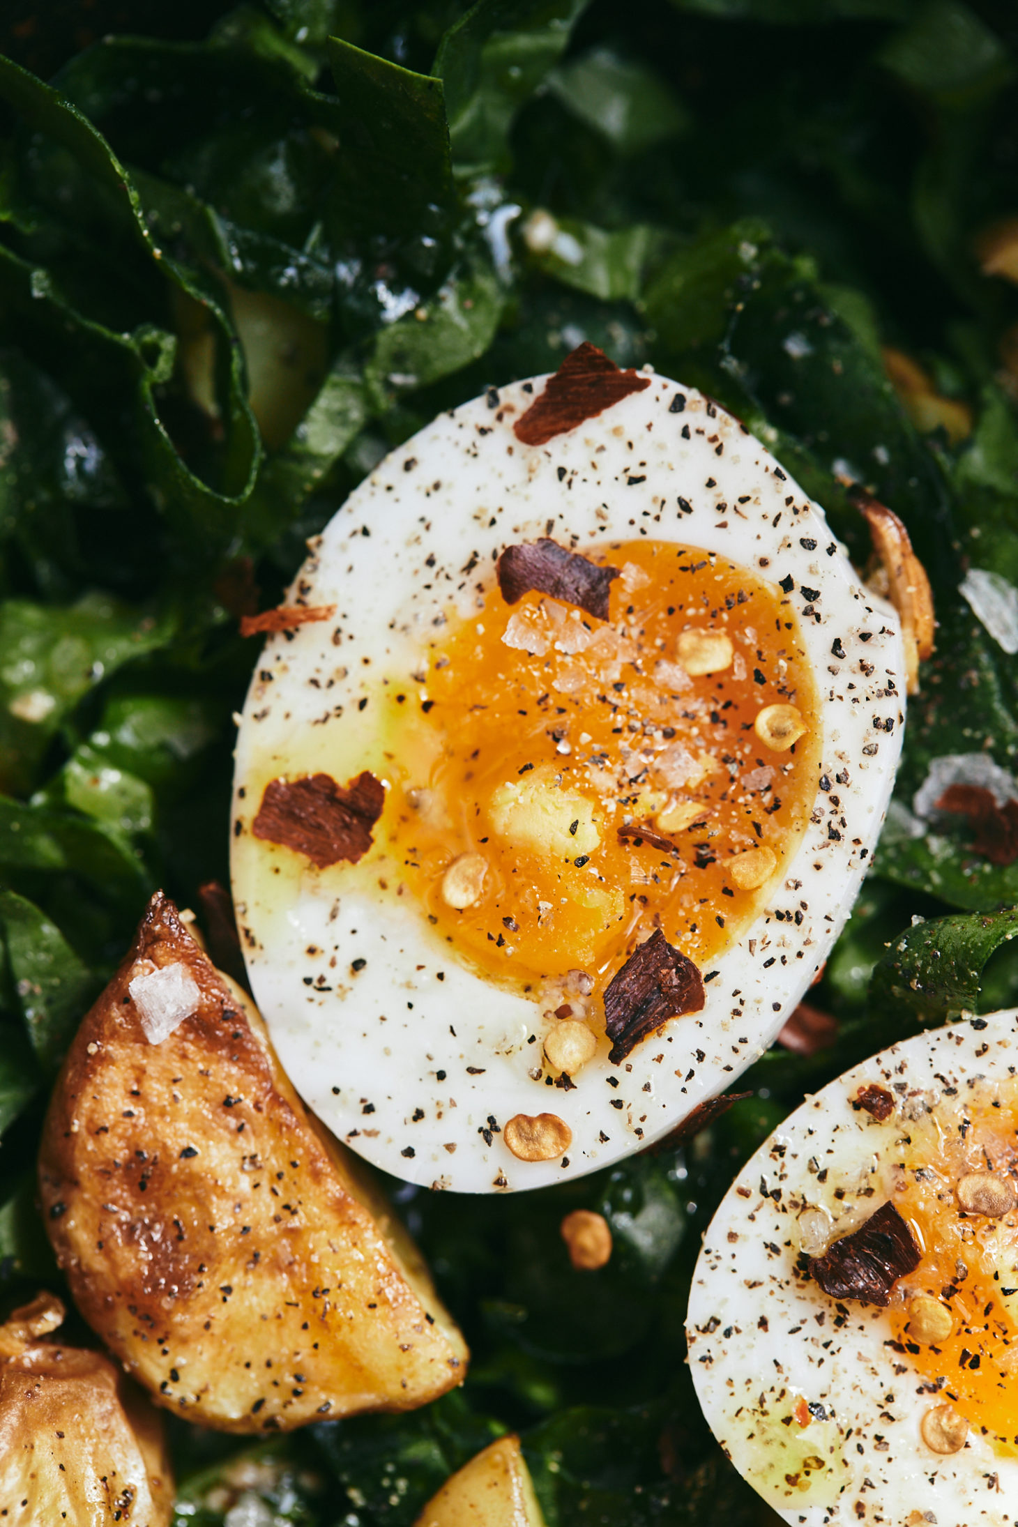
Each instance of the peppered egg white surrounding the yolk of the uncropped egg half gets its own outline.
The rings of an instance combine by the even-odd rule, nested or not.
[[[523,446],[513,421],[545,380],[443,414],[351,493],[311,542],[288,600],[336,605],[336,615],[266,641],[237,744],[234,896],[282,1064],[360,1154],[466,1193],[606,1167],[731,1087],[801,999],[855,901],[904,724],[894,611],[859,582],[820,507],[760,441],[694,389],[650,376],[644,391],[546,446]],[[546,1026],[540,1008],[461,964],[420,907],[382,892],[360,866],[317,870],[250,834],[275,776],[324,770],[345,785],[372,768],[385,777],[380,707],[369,701],[382,675],[420,704],[432,626],[449,606],[476,612],[501,551],[545,534],[580,548],[650,536],[774,582],[791,577],[823,699],[818,780],[830,782],[766,910],[711,960],[705,1009],[670,1020],[621,1066],[595,1058],[572,1092],[528,1075]],[[812,614],[800,585],[820,589]],[[542,1112],[568,1122],[572,1147],[520,1162],[490,1119],[501,1127]]]

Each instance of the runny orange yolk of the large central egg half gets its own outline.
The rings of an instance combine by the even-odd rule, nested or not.
[[[461,956],[523,989],[577,967],[603,989],[656,927],[708,967],[817,791],[817,689],[781,589],[670,542],[589,554],[621,570],[609,621],[537,592],[510,606],[493,580],[430,643],[424,715],[388,690],[375,841],[388,828],[404,890]],[[794,707],[798,741],[760,741],[771,705]]]

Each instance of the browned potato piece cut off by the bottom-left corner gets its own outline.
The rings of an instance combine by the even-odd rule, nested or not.
[[[166,1527],[162,1419],[108,1358],[38,1339],[63,1318],[60,1299],[40,1295],[0,1325],[5,1527]]]

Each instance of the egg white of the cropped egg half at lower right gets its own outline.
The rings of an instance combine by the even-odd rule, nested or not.
[[[804,1206],[827,1208],[844,1185],[833,1203],[842,1228],[855,1228],[881,1206],[867,1194],[873,1164],[896,1159],[910,1110],[936,1109],[948,1087],[965,1096],[981,1078],[1010,1080],[1016,1063],[1018,1008],[894,1044],[807,1098],[746,1162],[711,1220],[687,1316],[693,1382],[739,1472],[795,1527],[913,1527],[913,1513],[926,1510],[945,1527],[1018,1518],[1018,1458],[998,1457],[975,1429],[949,1455],[922,1441],[920,1420],[942,1400],[888,1345],[887,1310],[846,1303],[847,1318],[835,1321],[835,1299],[794,1277]],[[894,1093],[884,1124],[852,1109],[870,1083]],[[800,1396],[826,1417],[786,1428]],[[801,1475],[809,1489],[800,1490],[784,1475],[804,1454],[824,1469]]]

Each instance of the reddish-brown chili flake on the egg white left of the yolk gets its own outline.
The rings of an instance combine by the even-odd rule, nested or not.
[[[273,779],[252,832],[305,854],[319,869],[339,860],[356,864],[371,847],[371,829],[383,805],[385,786],[366,770],[345,789],[328,774]]]

